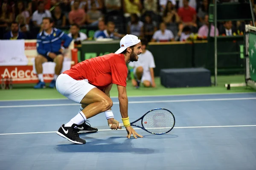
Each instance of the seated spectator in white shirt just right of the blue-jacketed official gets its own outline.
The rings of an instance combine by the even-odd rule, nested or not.
[[[73,38],[75,45],[79,45],[83,40],[87,40],[87,35],[80,32],[80,28],[77,24],[72,24],[68,36]]]

